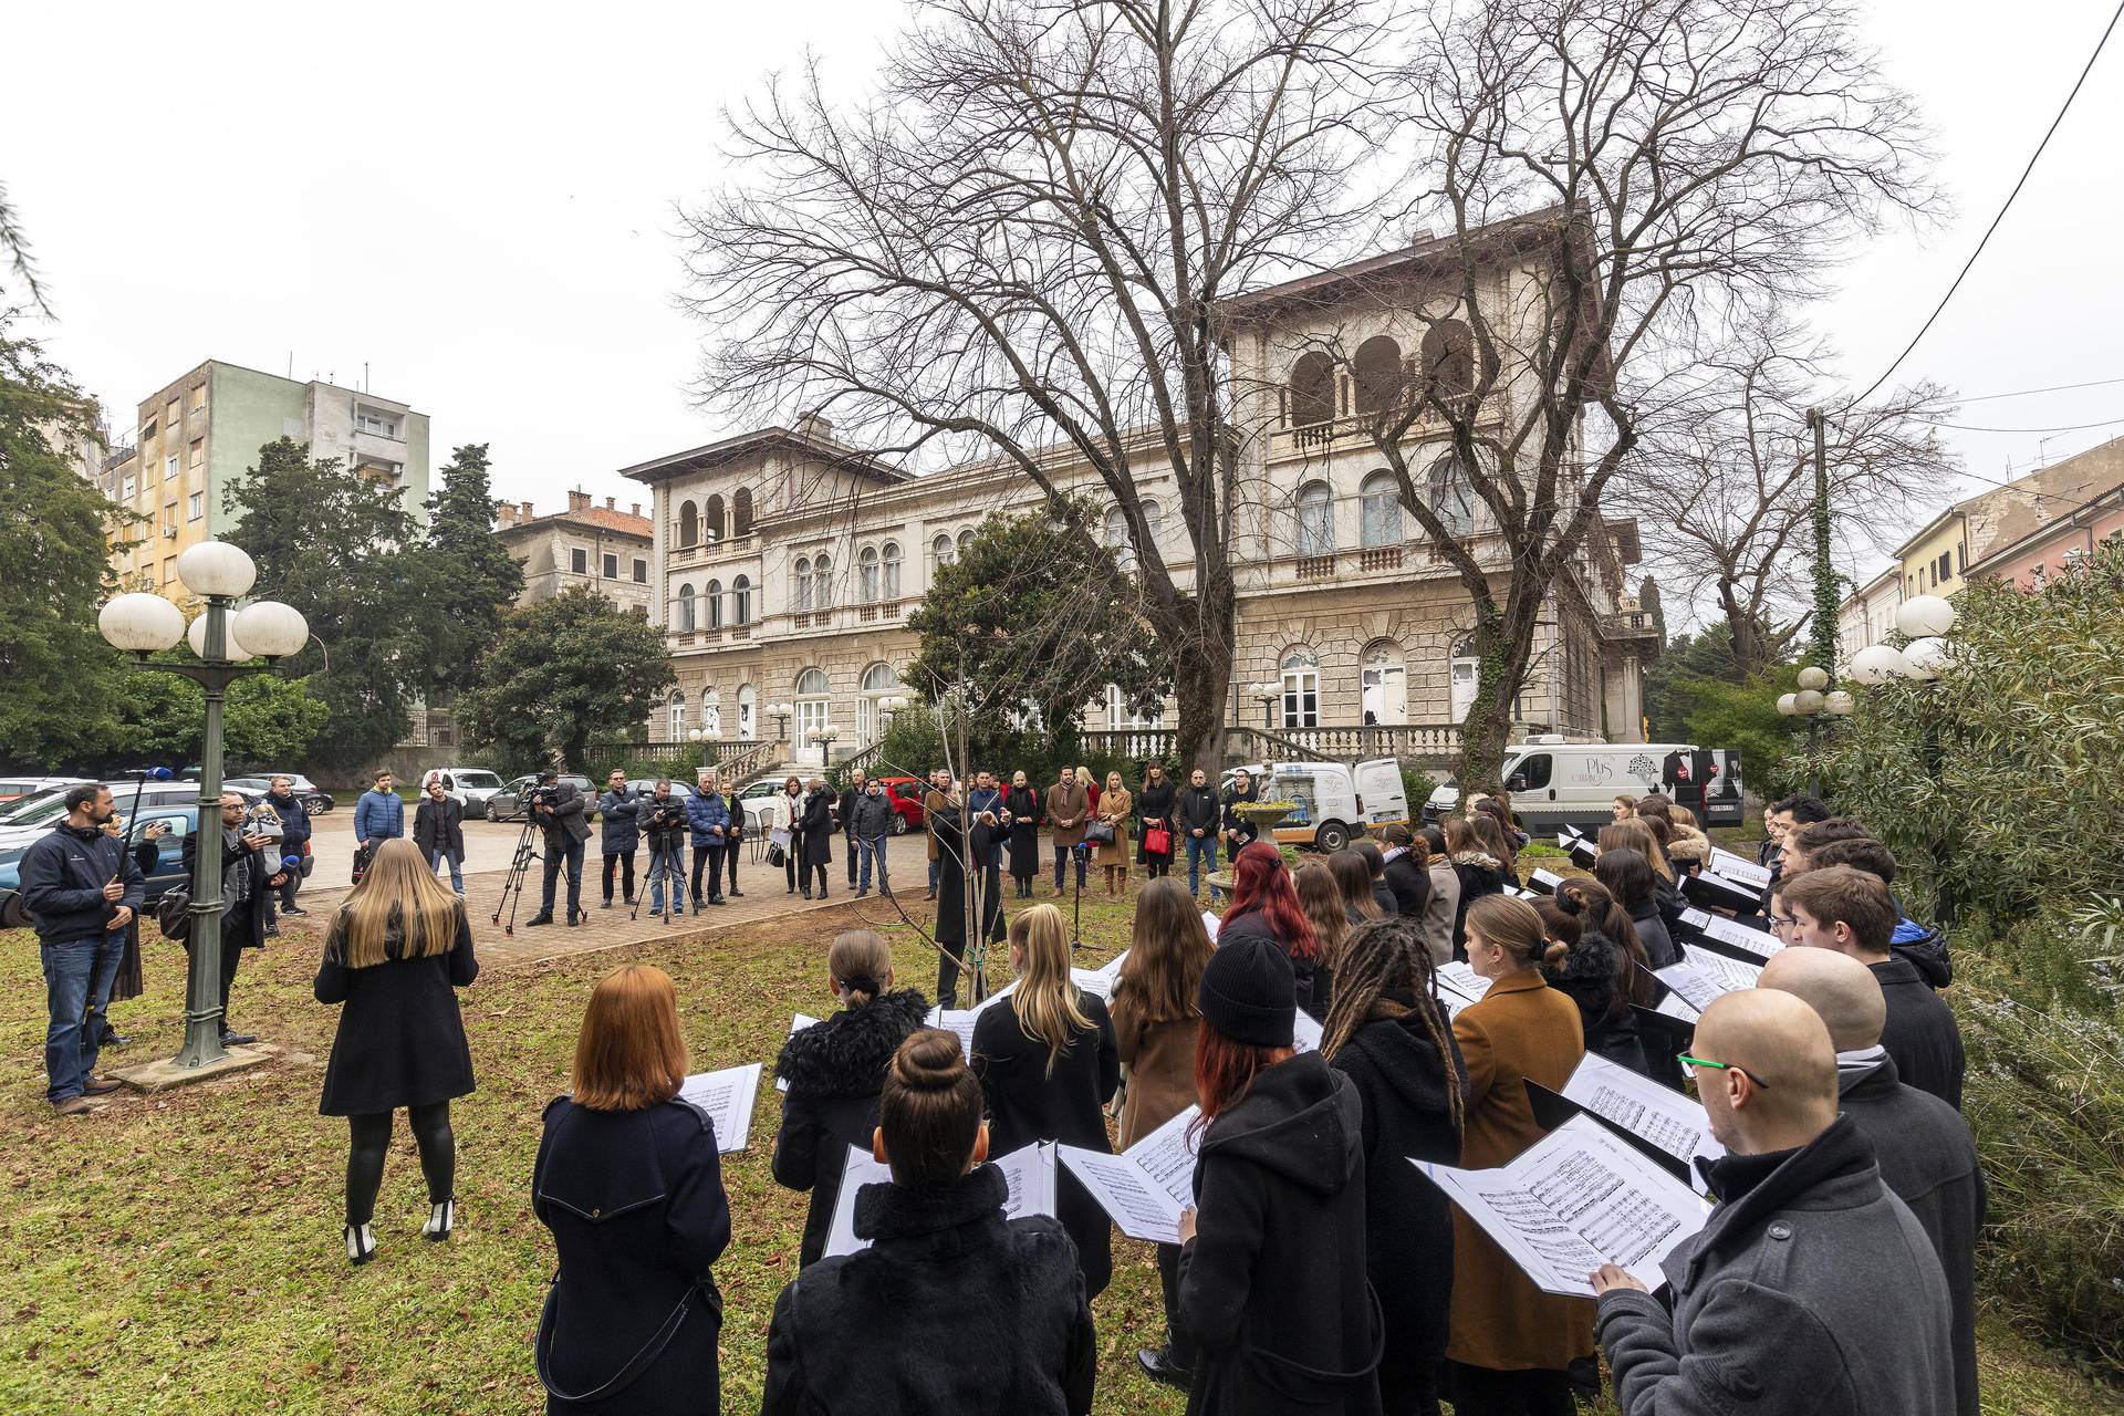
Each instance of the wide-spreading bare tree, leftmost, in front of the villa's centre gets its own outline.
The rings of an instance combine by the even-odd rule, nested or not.
[[[1100,495],[1204,766],[1249,495],[1213,306],[1370,234],[1364,11],[926,0],[862,102],[807,72],[737,115],[746,180],[688,212],[705,399],[818,405],[879,452],[1000,454],[1047,499]],[[1185,565],[1145,516],[1166,478]]]

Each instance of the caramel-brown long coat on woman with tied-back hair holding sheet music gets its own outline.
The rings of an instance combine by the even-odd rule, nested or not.
[[[1461,1008],[1453,1036],[1468,1064],[1461,1165],[1504,1165],[1546,1134],[1534,1121],[1525,1078],[1563,1091],[1585,1057],[1578,1004],[1525,968],[1491,983],[1483,1002]],[[1453,1337],[1446,1357],[1495,1371],[1561,1371],[1591,1354],[1593,1299],[1542,1293],[1455,1208]]]

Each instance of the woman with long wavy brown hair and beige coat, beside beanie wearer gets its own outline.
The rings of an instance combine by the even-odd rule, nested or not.
[[[1215,945],[1202,928],[1194,896],[1172,877],[1155,879],[1136,896],[1136,919],[1113,983],[1113,1042],[1128,1068],[1121,1102],[1121,1149],[1130,1149],[1196,1104],[1196,1038],[1202,1011],[1196,989]],[[1187,1391],[1194,1344],[1179,1323],[1181,1246],[1158,1246],[1158,1287],[1166,1306],[1166,1344],[1138,1348],[1136,1365],[1153,1382]]]

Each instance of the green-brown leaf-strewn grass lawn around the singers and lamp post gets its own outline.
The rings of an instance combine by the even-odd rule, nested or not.
[[[867,902],[871,904],[871,902]],[[890,911],[869,911],[884,923]],[[624,960],[678,981],[695,1068],[773,1061],[790,1015],[822,1013],[824,951],[856,906],[754,926],[714,945],[639,945],[489,974],[465,994],[480,1091],[455,1108],[459,1229],[421,1242],[427,1199],[404,1125],[378,1202],[376,1263],[340,1244],[346,1132],[316,1115],[336,1008],[310,1000],[312,936],[293,923],[244,960],[238,1025],[278,1042],[266,1068],[100,1117],[53,1119],[42,1081],[42,981],[30,934],[0,934],[0,1410],[4,1412],[537,1412],[531,1333],[552,1246],[531,1216],[539,1112],[565,1087],[582,1002]],[[1126,911],[1085,904],[1087,960],[1126,943]],[[932,955],[888,930],[901,983],[935,985]],[[113,1061],[174,1051],[183,953],[149,945],[149,991],[119,1004],[136,1042]],[[767,1176],[775,1093],[752,1146],[724,1157],[733,1242],[724,1408],[758,1408],[767,1318],[794,1274],[805,1195]],[[1181,1412],[1136,1376],[1162,1333],[1145,1244],[1115,1236],[1115,1280],[1096,1303],[1100,1412]],[[1986,1327],[1988,1412],[2124,1412],[2003,1323]]]

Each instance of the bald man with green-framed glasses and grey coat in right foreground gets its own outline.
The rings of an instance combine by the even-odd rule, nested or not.
[[[1837,1115],[1822,1019],[1791,994],[1727,994],[1682,1061],[1727,1149],[1718,1208],[1661,1265],[1667,1303],[1612,1263],[1591,1276],[1623,1414],[1952,1410],[1948,1280]]]

